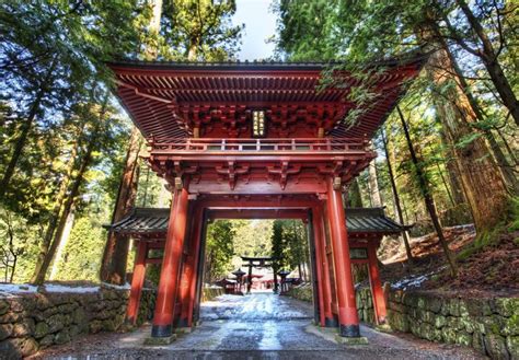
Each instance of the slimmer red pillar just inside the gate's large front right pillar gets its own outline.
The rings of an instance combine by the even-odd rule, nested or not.
[[[326,256],[326,234],[323,223],[323,211],[320,206],[313,208],[313,229],[315,237],[315,255],[318,259],[318,276],[320,276],[320,294],[322,295],[321,325],[326,327],[335,327],[335,321],[332,313],[332,289],[330,281],[330,266]],[[324,320],[323,320],[324,317]]]

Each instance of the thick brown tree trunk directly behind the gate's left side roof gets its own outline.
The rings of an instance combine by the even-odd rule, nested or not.
[[[126,217],[135,205],[139,174],[139,152],[141,148],[140,132],[137,127],[131,130],[128,152],[126,154],[123,178],[117,193],[117,201],[112,223]],[[108,232],[108,239],[103,253],[101,280],[123,284],[126,281],[126,264],[128,260],[129,237]]]

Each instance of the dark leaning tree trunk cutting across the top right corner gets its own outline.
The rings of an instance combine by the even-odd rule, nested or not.
[[[501,97],[503,104],[510,111],[511,117],[514,117],[516,125],[519,126],[519,102],[517,101],[516,94],[514,93],[508,79],[503,72],[503,68],[497,58],[498,54],[495,51],[492,40],[486,35],[485,30],[470,9],[469,4],[464,0],[457,0],[457,2],[460,5],[461,11],[465,14],[472,30],[483,44],[483,49],[480,50],[478,54],[485,65],[486,71],[488,71],[488,74],[491,76],[494,86],[496,86],[497,93]]]

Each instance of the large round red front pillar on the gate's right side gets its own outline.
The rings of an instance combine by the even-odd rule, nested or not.
[[[337,289],[337,310],[339,334],[358,337],[359,318],[355,303],[355,288],[351,278],[346,217],[341,189],[334,188],[332,177],[327,179],[327,207],[332,233],[332,248],[335,264],[335,286]]]

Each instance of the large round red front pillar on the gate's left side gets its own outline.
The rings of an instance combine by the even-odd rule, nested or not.
[[[165,239],[164,257],[157,295],[152,337],[169,337],[172,335],[174,305],[178,290],[178,276],[184,248],[184,237],[187,221],[187,190],[175,189],[171,206],[170,222]]]

